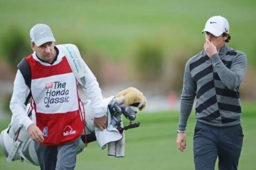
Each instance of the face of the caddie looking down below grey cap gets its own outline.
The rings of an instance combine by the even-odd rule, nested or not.
[[[31,44],[32,49],[36,52],[39,58],[49,63],[52,63],[55,58],[54,42],[46,42],[37,47],[36,44]]]

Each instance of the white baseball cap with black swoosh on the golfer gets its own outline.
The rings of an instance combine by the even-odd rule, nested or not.
[[[207,20],[202,33],[205,31],[213,34],[216,37],[220,36],[222,33],[229,34],[228,20],[221,16],[213,16]]]

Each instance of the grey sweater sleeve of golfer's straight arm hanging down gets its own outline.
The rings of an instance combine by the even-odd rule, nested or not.
[[[190,60],[189,60],[190,61]],[[194,99],[196,96],[196,82],[191,76],[189,69],[189,61],[186,63],[183,88],[180,99],[180,118],[179,118],[179,131],[185,131],[187,126],[188,117],[191,113]]]

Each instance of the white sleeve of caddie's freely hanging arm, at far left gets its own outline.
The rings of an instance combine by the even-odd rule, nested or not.
[[[10,109],[15,120],[19,121],[19,126],[24,126],[26,129],[28,129],[28,126],[33,123],[26,113],[26,106],[24,104],[28,91],[29,88],[25,83],[25,79],[23,78],[20,70],[18,70],[14,80]]]

